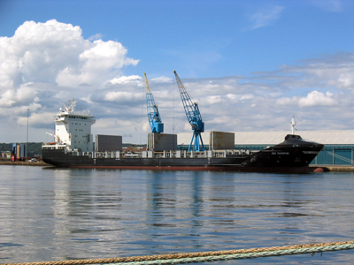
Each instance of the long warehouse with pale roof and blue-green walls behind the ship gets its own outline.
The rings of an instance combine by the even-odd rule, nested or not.
[[[235,149],[261,150],[281,143],[289,131],[278,132],[233,132]],[[188,149],[192,133],[178,133],[178,146]],[[201,133],[205,148],[209,148],[211,133]],[[318,165],[353,165],[354,130],[297,131],[304,140],[311,140],[325,145],[311,164]]]

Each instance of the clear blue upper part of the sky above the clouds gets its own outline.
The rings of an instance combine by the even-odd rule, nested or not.
[[[352,50],[349,1],[1,1],[1,35],[57,19],[89,39],[121,42],[141,63],[127,74],[178,68],[196,78],[272,71]],[[164,69],[165,68],[165,69]],[[168,69],[168,70],[167,70]]]

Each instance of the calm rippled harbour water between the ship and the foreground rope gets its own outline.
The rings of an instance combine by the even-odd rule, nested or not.
[[[354,240],[354,174],[0,166],[0,263]],[[354,251],[204,264],[350,264]]]

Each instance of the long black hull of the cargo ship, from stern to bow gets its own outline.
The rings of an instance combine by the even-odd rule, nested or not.
[[[42,149],[43,162],[57,167],[135,170],[228,170],[307,172],[323,145],[288,135],[284,142],[251,155],[210,158],[92,158],[65,154],[62,149]]]

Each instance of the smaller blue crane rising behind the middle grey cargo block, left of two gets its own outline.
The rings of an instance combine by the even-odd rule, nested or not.
[[[155,103],[154,96],[151,93],[150,85],[146,73],[145,78],[145,92],[146,103],[148,105],[148,119],[151,128],[151,133],[164,133],[164,124],[161,121],[160,113],[158,112],[158,105]]]

